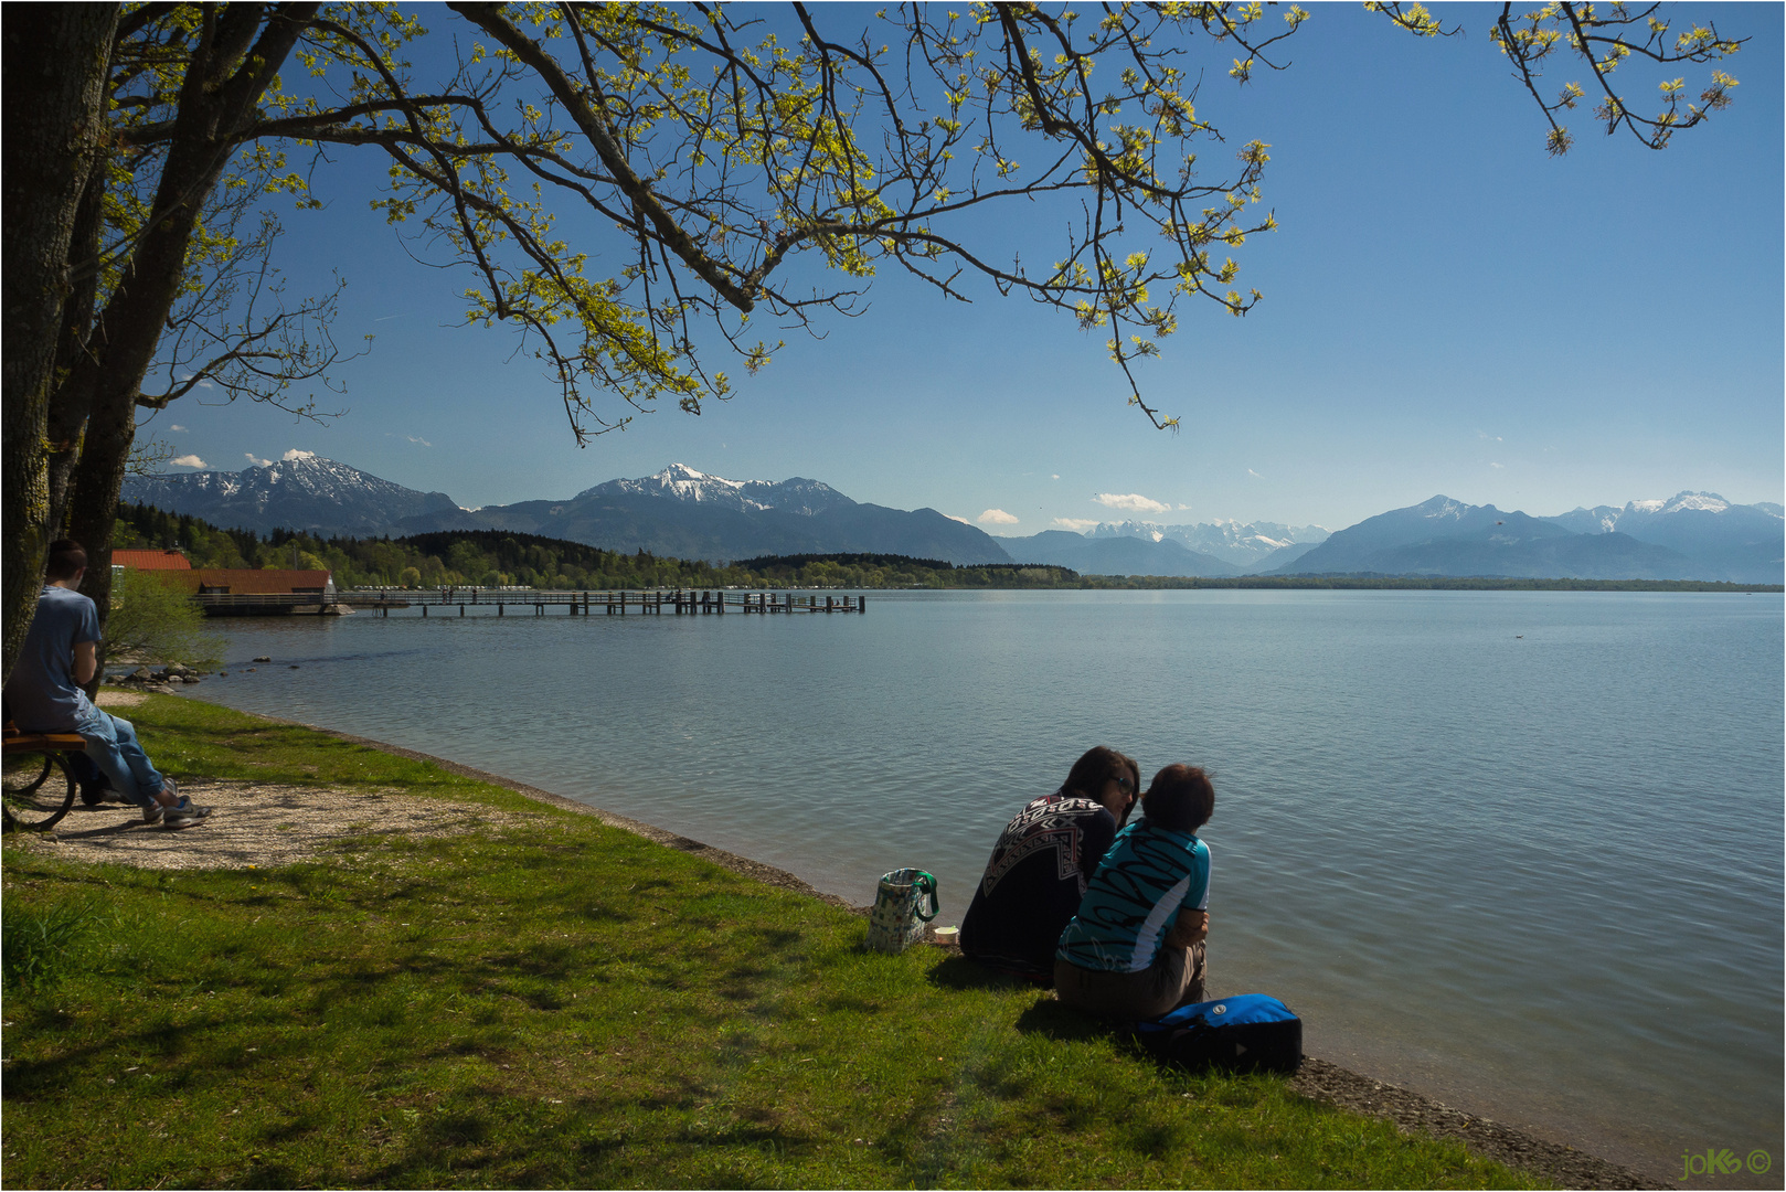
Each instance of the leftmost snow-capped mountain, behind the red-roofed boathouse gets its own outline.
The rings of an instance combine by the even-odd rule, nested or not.
[[[407,516],[459,511],[446,493],[404,488],[307,450],[241,472],[125,477],[120,499],[261,534],[384,534]]]

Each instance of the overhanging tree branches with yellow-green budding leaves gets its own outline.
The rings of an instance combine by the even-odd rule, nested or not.
[[[700,413],[732,393],[704,345],[761,368],[780,332],[859,315],[882,270],[1052,307],[1173,427],[1136,363],[1184,304],[1252,309],[1234,254],[1275,225],[1268,147],[1214,127],[1198,88],[1281,70],[1309,20],[1261,4],[791,4],[773,25],[716,4],[95,7],[114,20],[104,161],[64,202],[61,315],[45,332],[7,311],[9,357],[30,343],[55,361],[52,508],[9,495],[5,515],[88,545],[102,615],[138,411],[207,390],[325,413],[300,390],[341,359],[336,293],[286,295],[275,213],[321,206],[320,166],[343,154],[384,157],[370,214],[459,266],[468,322],[518,329],[577,441],[664,400]],[[1366,7],[1448,32],[1418,4]],[[1540,71],[1565,59],[1609,129],[1657,148],[1736,86],[1715,71],[1682,109],[1665,80],[1657,118],[1620,100],[1627,57],[1672,68],[1740,45],[1709,27],[1670,41],[1654,7],[1509,7],[1495,43],[1552,150],[1590,89],[1543,98]],[[11,665],[30,615],[11,586],[5,615]]]

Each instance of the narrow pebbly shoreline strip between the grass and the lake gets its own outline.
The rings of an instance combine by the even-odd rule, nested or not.
[[[184,692],[180,692],[184,695]],[[364,745],[368,749],[377,749],[398,758],[407,758],[413,761],[427,761],[438,765],[450,774],[461,777],[470,777],[480,783],[489,783],[493,786],[502,786],[518,795],[532,799],[536,802],[545,802],[564,811],[577,815],[589,815],[611,827],[625,829],[636,836],[643,836],[654,844],[661,844],[679,852],[688,852],[702,860],[713,861],[722,869],[734,874],[750,877],[754,881],[763,881],[795,894],[802,894],[818,899],[829,906],[847,910],[852,915],[866,917],[870,908],[855,906],[848,899],[836,894],[825,894],[802,877],[761,861],[754,861],[747,856],[729,852],[725,849],[716,849],[700,840],[693,840],[680,833],[673,833],[663,827],[655,827],[643,820],[636,820],[614,811],[605,811],[595,804],[580,802],[566,795],[557,795],[554,792],[543,790],[539,786],[530,786],[527,783],[514,781],[502,774],[493,774],[489,770],[480,770],[448,758],[439,758],[436,754],[421,752],[418,749],[407,749],[404,745],[393,745],[389,742],[380,742],[371,736],[359,736],[357,733],[343,733],[339,729],[309,724],[304,720],[289,720],[284,717],[268,717],[263,713],[252,713],[263,720],[271,720],[275,724],[289,724],[314,733],[325,733],[343,742],[354,745]],[[936,945],[947,947],[947,945]],[[1373,1079],[1350,1069],[1340,1067],[1318,1056],[1304,1056],[1302,1070],[1291,1078],[1291,1088],[1302,1095],[1314,1101],[1334,1104],[1338,1108],[1363,1113],[1368,1117],[1386,1119],[1397,1124],[1404,1133],[1423,1133],[1434,1138],[1454,1138],[1461,1142],[1470,1153],[1482,1158],[1491,1158],[1507,1167],[1516,1167],[1541,1179],[1550,1179],[1559,1187],[1566,1188],[1673,1188],[1677,1185],[1666,1183],[1663,1179],[1645,1176],[1643,1172],[1623,1167],[1611,1160],[1604,1160],[1597,1154],[1586,1151],[1577,1151],[1566,1144],[1550,1142],[1536,1135],[1525,1133],[1513,1126],[1506,1126],[1493,1119],[1479,1117],[1465,1110],[1452,1108],[1432,1097],[1391,1085],[1388,1081]]]

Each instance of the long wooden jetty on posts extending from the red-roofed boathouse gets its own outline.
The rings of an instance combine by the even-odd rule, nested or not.
[[[300,609],[321,615],[339,611],[370,611],[389,617],[391,609],[420,608],[427,617],[429,609],[459,617],[472,609],[495,609],[497,617],[505,617],[507,609],[532,609],[534,617],[545,617],[550,609],[563,608],[568,617],[625,617],[639,613],[663,617],[664,611],[682,615],[723,615],[757,613],[761,617],[775,613],[866,613],[868,597],[838,595],[818,592],[727,592],[695,588],[654,588],[622,592],[568,592],[545,588],[355,588],[352,592],[329,593],[202,593],[193,602],[211,615],[225,613],[296,613]],[[486,613],[488,615],[488,613]]]

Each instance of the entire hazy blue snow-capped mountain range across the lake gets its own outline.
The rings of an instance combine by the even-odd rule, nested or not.
[[[1089,533],[993,538],[936,509],[855,502],[822,481],[729,481],[670,465],[568,500],[464,509],[309,452],[243,472],[130,477],[123,499],[268,533],[414,534],[507,529],[604,550],[714,563],[763,554],[873,552],[972,563],[1052,563],[1107,575],[1506,575],[1781,583],[1777,504],[1713,493],[1529,516],[1432,497],[1338,533],[1320,525],[1114,522]]]

